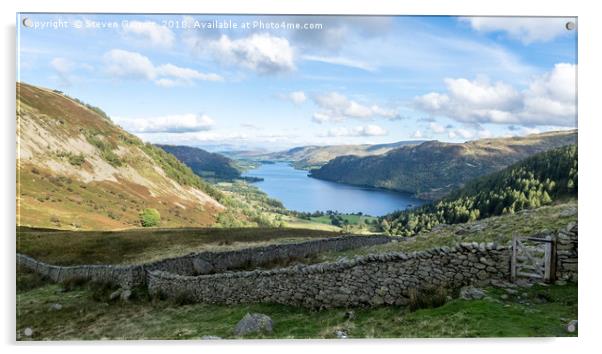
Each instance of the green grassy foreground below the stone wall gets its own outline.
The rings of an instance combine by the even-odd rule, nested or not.
[[[455,299],[414,312],[403,307],[312,311],[274,305],[175,304],[139,295],[128,303],[108,301],[105,290],[80,286],[64,291],[31,273],[17,280],[18,340],[236,338],[232,331],[247,312],[274,321],[272,334],[245,338],[524,337],[575,336],[565,331],[577,319],[577,285],[535,285],[507,295],[487,288],[482,300]],[[109,290],[110,291],[110,290]],[[60,304],[62,308],[53,308]],[[56,305],[55,305],[56,306]],[[24,336],[31,328],[31,337]]]

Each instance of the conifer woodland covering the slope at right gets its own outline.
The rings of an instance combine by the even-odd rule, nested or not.
[[[439,201],[389,214],[380,225],[387,234],[413,236],[438,224],[513,214],[576,195],[577,146],[568,145],[477,178]]]

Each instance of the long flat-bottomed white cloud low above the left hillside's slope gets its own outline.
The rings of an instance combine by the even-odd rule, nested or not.
[[[115,117],[115,122],[132,133],[188,133],[211,130],[215,121],[204,114],[180,114],[148,118]]]

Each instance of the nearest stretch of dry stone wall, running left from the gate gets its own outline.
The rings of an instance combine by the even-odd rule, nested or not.
[[[412,289],[456,288],[507,279],[510,249],[461,244],[413,254],[274,270],[182,276],[148,273],[151,294],[205,303],[281,303],[305,307],[405,304]]]

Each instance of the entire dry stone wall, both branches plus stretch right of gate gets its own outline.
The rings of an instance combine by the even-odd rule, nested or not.
[[[577,280],[577,237],[576,223],[556,234],[558,279]],[[510,276],[511,248],[493,243],[462,243],[411,254],[373,254],[272,270],[229,271],[389,241],[389,237],[347,236],[232,252],[203,252],[132,266],[63,267],[21,254],[17,254],[17,261],[57,282],[77,277],[112,282],[124,288],[145,285],[153,295],[196,302],[264,302],[311,308],[403,305],[413,291],[479,285]]]

